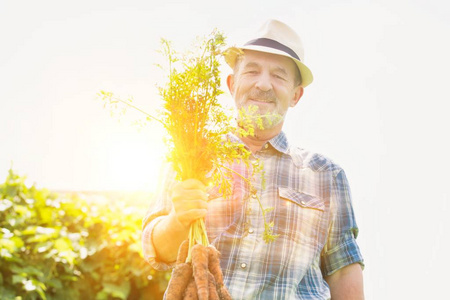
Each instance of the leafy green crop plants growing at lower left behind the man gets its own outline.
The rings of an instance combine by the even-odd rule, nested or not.
[[[161,299],[170,274],[144,261],[142,211],[0,185],[0,299]]]

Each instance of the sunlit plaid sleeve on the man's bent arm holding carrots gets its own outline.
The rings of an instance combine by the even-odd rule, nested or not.
[[[154,201],[142,221],[142,251],[144,259],[152,268],[159,271],[166,271],[174,267],[173,263],[167,263],[158,259],[152,235],[156,224],[167,216],[172,209],[169,193],[175,182],[175,172],[170,165],[165,166],[160,175]]]

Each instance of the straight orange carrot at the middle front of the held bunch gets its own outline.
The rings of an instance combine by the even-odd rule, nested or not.
[[[200,244],[192,247],[192,269],[199,300],[208,300],[208,252]]]

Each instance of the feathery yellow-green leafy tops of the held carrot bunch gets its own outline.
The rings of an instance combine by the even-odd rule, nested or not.
[[[170,42],[162,40],[162,52],[168,60],[169,72],[167,84],[159,89],[163,100],[160,116],[135,107],[132,99],[124,101],[105,91],[101,91],[100,96],[110,108],[117,108],[122,103],[143,112],[149,121],[159,122],[167,132],[167,159],[178,179],[198,179],[219,187],[226,197],[231,194],[233,175],[240,176],[249,189],[252,188],[252,178],[236,173],[230,168],[232,164],[245,164],[250,177],[262,173],[263,168],[258,161],[252,163],[251,151],[244,144],[228,139],[227,134],[252,135],[255,125],[262,129],[263,119],[267,116],[255,114],[257,107],[249,111],[241,110],[239,119],[242,124],[236,127],[231,122],[232,117],[222,109],[218,101],[218,96],[223,93],[219,58],[224,45],[224,36],[214,31],[210,37],[201,40],[194,51],[179,55]],[[262,209],[265,224],[263,238],[270,242],[276,235],[272,231],[273,223],[266,221],[265,210]],[[209,244],[203,219],[192,223],[189,240],[191,247],[195,243]]]

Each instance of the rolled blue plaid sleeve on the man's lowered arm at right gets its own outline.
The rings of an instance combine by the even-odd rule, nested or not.
[[[330,227],[328,240],[322,252],[322,274],[329,276],[337,270],[364,260],[356,243],[358,226],[351,201],[350,187],[343,170],[334,178],[331,190]]]

